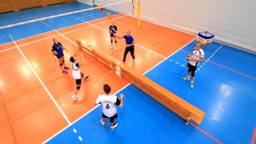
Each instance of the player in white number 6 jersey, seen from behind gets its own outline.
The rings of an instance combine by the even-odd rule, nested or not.
[[[99,95],[96,99],[96,104],[102,104],[102,127],[105,127],[106,118],[110,119],[110,130],[117,127],[118,123],[114,123],[114,119],[118,118],[116,107],[123,107],[124,95],[120,95],[120,99],[116,95],[111,95],[111,87],[108,84],[103,85],[105,94]]]

